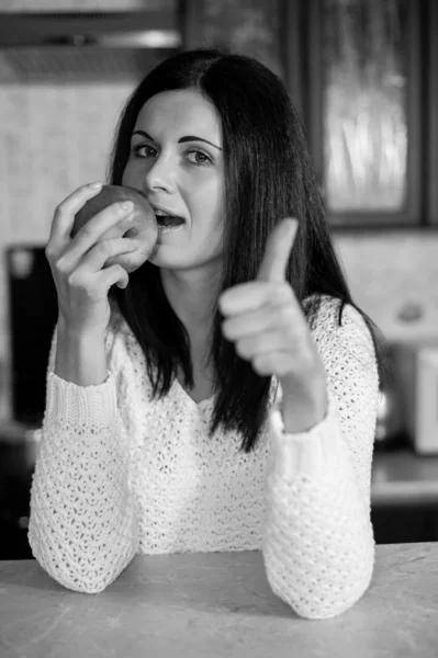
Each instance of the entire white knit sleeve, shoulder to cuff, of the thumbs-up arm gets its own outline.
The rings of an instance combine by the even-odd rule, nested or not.
[[[326,417],[296,434],[283,432],[279,409],[269,417],[265,567],[273,592],[307,619],[333,617],[357,602],[374,563],[375,352],[352,306],[345,306],[340,327],[335,315],[325,305],[314,333],[326,372]]]

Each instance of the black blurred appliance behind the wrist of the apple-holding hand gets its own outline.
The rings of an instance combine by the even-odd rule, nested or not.
[[[13,420],[40,426],[58,304],[44,247],[7,248]]]

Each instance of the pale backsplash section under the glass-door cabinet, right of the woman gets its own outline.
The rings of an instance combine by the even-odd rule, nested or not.
[[[335,234],[355,302],[390,341],[438,340],[438,230]]]

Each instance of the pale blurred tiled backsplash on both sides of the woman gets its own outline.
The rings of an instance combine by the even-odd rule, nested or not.
[[[10,412],[4,248],[45,245],[55,206],[80,184],[105,178],[115,124],[133,87],[0,87],[0,419]],[[356,302],[388,338],[438,334],[438,231],[335,234],[335,246]],[[398,319],[405,304],[419,304],[423,317]]]

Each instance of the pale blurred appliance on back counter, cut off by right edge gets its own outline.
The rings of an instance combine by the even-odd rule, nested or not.
[[[403,422],[408,443],[422,455],[438,455],[438,337],[394,347]]]

